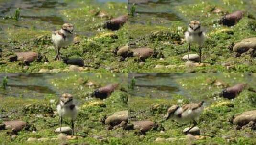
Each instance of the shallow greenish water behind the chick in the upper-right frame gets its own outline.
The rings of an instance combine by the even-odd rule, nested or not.
[[[223,3],[223,0],[129,0],[128,8],[130,9],[132,4],[135,4],[136,7],[136,16],[129,19],[129,21],[131,23],[163,26],[170,25],[172,21],[183,21],[187,23],[190,20],[187,20],[184,17],[182,17],[182,14],[177,12],[175,10],[175,7],[193,4],[198,1],[211,1],[214,3]],[[249,10],[249,12],[255,16],[256,6],[252,4],[252,1],[241,1],[247,4],[247,10]]]

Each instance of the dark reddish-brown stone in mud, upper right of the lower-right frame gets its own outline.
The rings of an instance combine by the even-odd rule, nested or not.
[[[245,88],[245,84],[236,84],[232,87],[228,87],[222,90],[221,96],[228,99],[234,99]]]

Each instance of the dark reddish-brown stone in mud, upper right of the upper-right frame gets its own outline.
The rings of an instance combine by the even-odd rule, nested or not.
[[[234,26],[240,19],[243,18],[244,12],[241,10],[235,11],[231,14],[223,16],[220,23],[226,26]]]

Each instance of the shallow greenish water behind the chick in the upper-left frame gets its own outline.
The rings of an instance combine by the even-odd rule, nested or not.
[[[127,0],[0,0],[0,39],[7,42],[10,39],[7,33],[11,34],[8,30],[16,30],[16,28],[36,31],[57,30],[64,22],[68,22],[68,15],[61,14],[61,10],[81,8],[84,6],[81,3],[102,5],[106,2],[125,3]],[[17,8],[20,8],[20,20],[6,20],[14,16]],[[90,30],[77,31],[77,34],[87,37],[93,35]],[[19,39],[19,41],[23,40]]]

